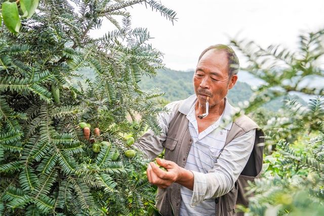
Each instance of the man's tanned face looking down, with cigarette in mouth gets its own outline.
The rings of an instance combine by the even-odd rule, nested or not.
[[[224,51],[212,49],[201,57],[193,75],[194,92],[199,104],[204,105],[209,96],[210,107],[213,107],[222,102],[228,89],[233,88],[237,75],[228,76],[227,64]]]

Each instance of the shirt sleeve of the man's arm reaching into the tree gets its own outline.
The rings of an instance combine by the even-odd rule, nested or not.
[[[164,150],[163,143],[167,139],[170,122],[180,104],[181,100],[171,102],[166,105],[168,112],[158,114],[158,124],[161,127],[159,135],[154,135],[152,130],[148,130],[134,143],[133,146],[139,149],[147,159],[154,160]]]

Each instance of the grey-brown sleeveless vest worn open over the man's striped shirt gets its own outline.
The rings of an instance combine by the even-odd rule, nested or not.
[[[254,181],[259,177],[262,169],[264,134],[250,118],[245,115],[235,119],[230,131],[227,133],[225,146],[234,138],[239,137],[252,129],[256,130],[254,149],[244,170],[239,175],[233,189],[215,199],[216,216],[244,215],[235,213],[235,205],[248,205],[248,197],[245,195],[244,188],[248,186],[248,180]],[[170,122],[167,139],[164,142],[165,159],[177,163],[184,167],[187,161],[188,153],[191,147],[192,138],[188,129],[188,119],[186,115],[176,112]],[[179,215],[181,194],[181,185],[173,183],[166,189],[158,189],[156,207],[163,215]]]

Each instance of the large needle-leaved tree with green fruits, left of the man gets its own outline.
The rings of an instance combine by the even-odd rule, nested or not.
[[[160,93],[137,83],[163,65],[126,9],[142,4],[171,21],[175,12],[152,0],[1,2],[0,214],[152,213],[147,161],[124,154],[125,137],[159,131],[163,109],[150,98]],[[103,20],[115,28],[89,37]],[[85,68],[96,79],[72,85]]]

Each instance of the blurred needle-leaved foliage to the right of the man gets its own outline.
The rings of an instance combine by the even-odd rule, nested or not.
[[[298,51],[282,46],[263,49],[253,42],[233,40],[231,44],[249,62],[246,70],[264,81],[250,103],[243,107],[266,133],[267,155],[263,177],[251,185],[256,195],[246,215],[324,214],[324,29],[300,35]],[[308,85],[305,85],[309,83]],[[303,105],[286,100],[273,116],[256,112],[261,104],[288,93],[308,94]]]

